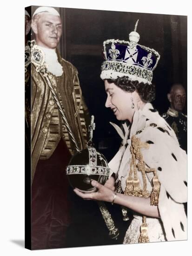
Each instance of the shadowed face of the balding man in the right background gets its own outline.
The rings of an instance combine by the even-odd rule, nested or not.
[[[186,101],[186,93],[185,89],[182,86],[176,86],[172,88],[171,94],[171,108],[182,111],[185,107],[185,101]]]

